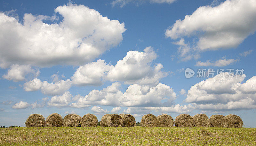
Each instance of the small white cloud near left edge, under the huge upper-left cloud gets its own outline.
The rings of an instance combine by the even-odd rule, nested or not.
[[[19,82],[25,80],[25,76],[28,74],[37,77],[40,74],[40,71],[38,69],[32,69],[30,65],[13,64],[11,68],[7,70],[7,74],[5,74],[3,78],[12,80],[13,82]]]

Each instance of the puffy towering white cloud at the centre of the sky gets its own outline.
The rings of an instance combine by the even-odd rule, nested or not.
[[[111,81],[124,81],[124,84],[158,84],[159,79],[168,73],[161,71],[163,65],[151,62],[157,57],[152,47],[146,47],[144,52],[129,51],[123,60],[119,60],[108,72]]]

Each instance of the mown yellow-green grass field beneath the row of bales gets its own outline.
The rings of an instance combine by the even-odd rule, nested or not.
[[[0,145],[256,145],[256,128],[1,128]]]

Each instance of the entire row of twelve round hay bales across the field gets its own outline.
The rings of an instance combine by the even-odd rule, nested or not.
[[[63,119],[60,114],[52,113],[46,120],[40,114],[32,114],[25,122],[27,127],[96,127],[98,119],[93,114],[86,114],[81,118],[77,114],[68,114]],[[154,116],[146,114],[142,117],[141,127],[232,127],[241,128],[242,119],[234,114],[227,116],[212,115],[210,119],[205,114],[196,114],[191,117],[188,114],[180,114],[175,120],[167,114]],[[105,114],[101,121],[101,127],[134,127],[135,118],[130,114]]]

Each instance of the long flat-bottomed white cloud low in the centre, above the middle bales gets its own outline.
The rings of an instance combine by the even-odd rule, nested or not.
[[[163,106],[172,104],[176,99],[173,89],[165,84],[157,84],[150,87],[147,85],[130,85],[123,93],[120,91],[121,84],[116,82],[103,90],[92,90],[85,97],[79,98],[72,103],[72,107],[82,108],[90,105],[103,106]],[[166,99],[167,101],[162,103]]]

